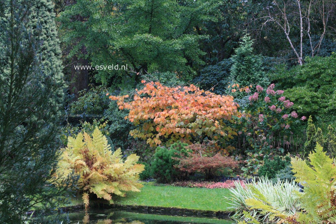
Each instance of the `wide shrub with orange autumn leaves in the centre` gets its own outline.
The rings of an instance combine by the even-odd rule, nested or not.
[[[233,97],[216,95],[194,85],[167,87],[150,82],[132,97],[110,99],[117,100],[119,109],[129,110],[125,119],[136,127],[130,134],[151,146],[162,142],[169,146],[178,140],[192,143],[200,136],[225,143],[237,135],[227,126],[234,122],[234,115],[239,117]]]

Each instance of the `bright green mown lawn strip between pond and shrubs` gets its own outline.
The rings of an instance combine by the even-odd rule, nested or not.
[[[224,199],[229,190],[224,188],[188,188],[154,186],[144,183],[141,192],[128,192],[126,197],[113,197],[119,205],[183,208],[205,211],[227,211],[229,204]]]

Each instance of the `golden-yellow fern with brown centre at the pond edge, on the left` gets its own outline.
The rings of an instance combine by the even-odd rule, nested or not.
[[[112,204],[112,194],[125,196],[125,191],[140,191],[142,185],[137,180],[144,166],[136,164],[138,159],[131,154],[123,160],[120,148],[112,153],[106,137],[97,128],[92,137],[84,132],[68,138],[58,173],[68,175],[74,170],[80,176],[78,187],[86,208],[90,193]]]

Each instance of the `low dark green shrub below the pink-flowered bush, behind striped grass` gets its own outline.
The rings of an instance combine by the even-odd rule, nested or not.
[[[276,178],[280,170],[286,168],[291,164],[291,158],[286,156],[284,160],[280,156],[275,156],[270,160],[268,156],[264,158],[264,165],[260,167],[258,174],[260,176],[268,177],[269,179]]]

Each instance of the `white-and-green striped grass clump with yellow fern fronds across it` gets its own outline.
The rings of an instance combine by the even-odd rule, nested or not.
[[[275,185],[261,177],[246,188],[236,184],[230,189],[230,209],[235,209],[234,219],[245,219],[250,223],[277,223],[299,209],[299,187],[294,182],[278,181]]]

